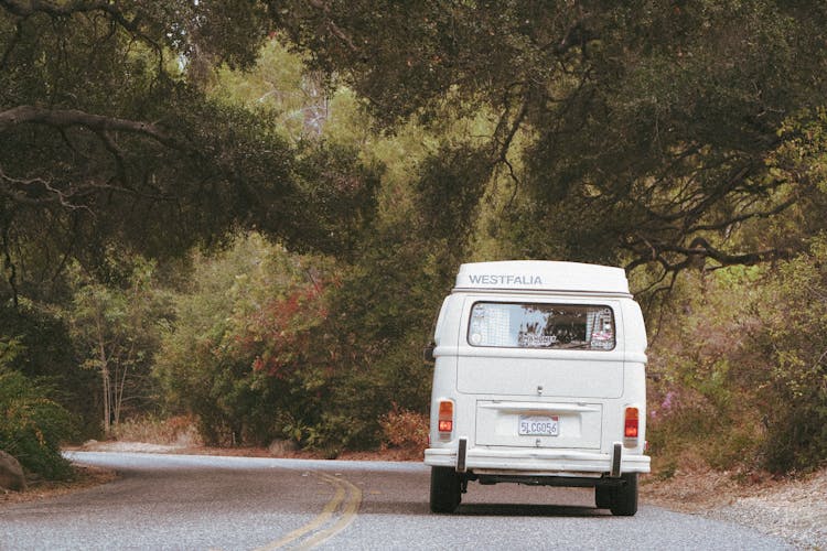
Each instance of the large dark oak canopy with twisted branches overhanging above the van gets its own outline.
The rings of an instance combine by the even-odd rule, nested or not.
[[[490,109],[480,152],[518,194],[501,204],[500,237],[522,256],[652,264],[658,284],[707,261],[751,264],[803,247],[731,236],[806,193],[765,160],[787,139],[784,120],[823,101],[821,4],[270,8],[311,66],[346,80],[387,126]]]

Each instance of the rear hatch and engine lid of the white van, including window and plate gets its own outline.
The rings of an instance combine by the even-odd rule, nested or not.
[[[479,445],[599,449],[623,395],[621,309],[610,299],[466,296],[457,389],[475,395]]]

